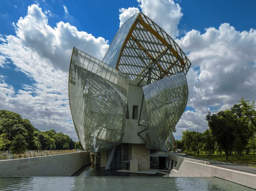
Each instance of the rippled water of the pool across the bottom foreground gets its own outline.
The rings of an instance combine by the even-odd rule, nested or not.
[[[30,177],[0,178],[0,191],[251,191],[220,178]]]

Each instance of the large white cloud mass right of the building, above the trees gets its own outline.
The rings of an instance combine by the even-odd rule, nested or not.
[[[229,109],[242,97],[256,100],[256,30],[239,32],[223,23],[202,34],[189,31],[177,43],[192,63],[187,74],[188,106],[196,109],[186,111],[176,129],[195,130],[198,126],[204,131],[208,111]],[[177,134],[181,137],[180,130]]]

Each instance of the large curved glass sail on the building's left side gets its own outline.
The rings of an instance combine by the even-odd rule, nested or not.
[[[74,127],[83,148],[99,152],[120,145],[128,76],[74,48],[68,82]]]

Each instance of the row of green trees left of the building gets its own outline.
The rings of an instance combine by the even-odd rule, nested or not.
[[[26,150],[82,149],[68,135],[55,130],[40,131],[20,114],[0,110],[0,150],[22,153]]]

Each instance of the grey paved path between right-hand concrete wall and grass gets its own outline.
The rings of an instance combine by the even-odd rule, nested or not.
[[[182,157],[186,157],[186,158],[190,158],[190,159],[198,159],[198,160],[209,161],[210,164],[213,165],[213,166],[219,166],[219,167],[222,167],[222,168],[227,168],[227,169],[231,169],[231,170],[235,170],[235,171],[241,171],[241,172],[256,174],[256,168],[253,168],[253,167],[241,166],[241,165],[227,163],[227,162],[219,162],[219,161],[215,161],[215,160],[196,158],[196,157],[189,156],[189,155],[184,155],[184,154],[181,154],[181,153],[172,153],[172,154],[182,156]]]

